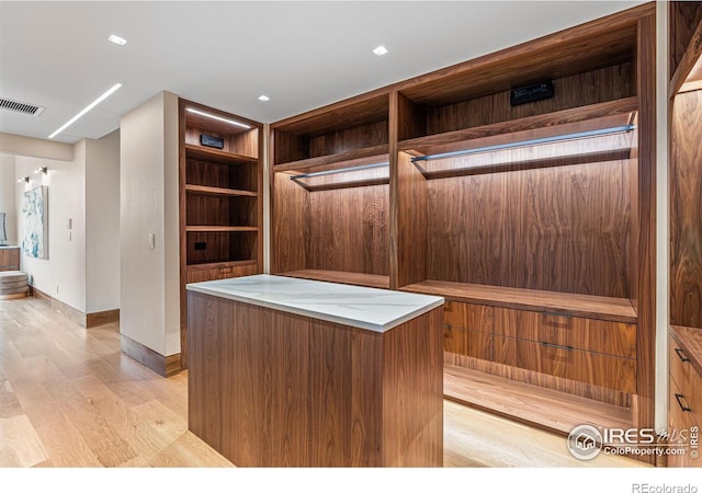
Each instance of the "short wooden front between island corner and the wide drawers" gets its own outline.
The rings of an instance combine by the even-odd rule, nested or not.
[[[492,359],[492,307],[448,300],[443,314],[445,352]]]

